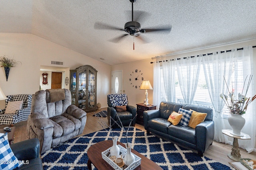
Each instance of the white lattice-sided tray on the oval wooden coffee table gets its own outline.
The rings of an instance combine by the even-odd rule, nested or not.
[[[122,147],[121,145],[117,145],[120,148],[120,152],[122,155],[122,158],[124,158],[124,156],[126,155],[127,150]],[[110,147],[111,148],[111,147]],[[113,162],[109,157],[107,156],[108,152],[110,151],[110,148],[105,150],[104,152],[101,152],[102,158],[110,165],[112,166],[115,170],[134,170],[135,168],[137,168],[140,163],[141,163],[141,158],[138,157],[136,154],[132,153],[135,156],[135,161],[130,164],[127,168],[123,169],[120,168],[115,162]]]

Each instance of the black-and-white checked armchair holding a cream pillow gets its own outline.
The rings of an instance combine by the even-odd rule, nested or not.
[[[5,113],[8,102],[21,101],[23,100],[22,108],[16,110],[15,113]],[[31,94],[18,94],[9,95],[5,100],[5,108],[0,109],[0,125],[10,125],[18,123],[20,121],[28,120],[28,115],[30,115],[31,110]]]

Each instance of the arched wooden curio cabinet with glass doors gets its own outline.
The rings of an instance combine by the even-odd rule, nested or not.
[[[97,110],[97,72],[98,71],[90,65],[84,65],[75,70],[70,70],[72,104],[87,112]]]

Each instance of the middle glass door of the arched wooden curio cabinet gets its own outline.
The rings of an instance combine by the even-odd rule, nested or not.
[[[86,70],[79,73],[78,78],[78,107],[80,109],[86,108]]]

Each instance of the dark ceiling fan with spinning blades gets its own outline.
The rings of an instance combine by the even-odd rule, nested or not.
[[[129,22],[125,23],[124,24],[124,29],[114,27],[114,26],[111,26],[111,25],[108,25],[108,24],[105,24],[105,23],[100,23],[100,22],[96,22],[94,24],[94,28],[95,29],[121,30],[121,31],[126,32],[126,34],[123,34],[119,37],[116,37],[116,38],[112,39],[111,42],[113,42],[113,43],[118,43],[118,41],[120,41],[121,39],[123,39],[127,35],[133,35],[135,37],[140,38],[142,41],[146,42],[144,39],[142,39],[142,37],[139,37],[140,33],[147,33],[147,32],[153,32],[153,31],[165,31],[165,32],[170,32],[171,31],[171,29],[172,29],[171,26],[157,28],[157,29],[153,29],[153,28],[141,29],[140,23],[133,20],[133,3],[136,2],[136,0],[130,0],[130,2],[132,2],[132,21],[129,21]]]

